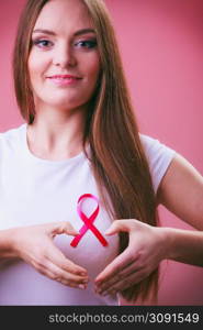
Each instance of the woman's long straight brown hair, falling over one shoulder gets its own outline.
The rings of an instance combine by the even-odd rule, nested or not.
[[[88,141],[92,172],[109,215],[113,219],[137,219],[157,226],[158,212],[149,166],[140,143],[109,12],[102,0],[81,1],[94,24],[102,66],[100,81],[87,114],[83,148]],[[35,118],[27,72],[31,35],[47,2],[27,1],[20,18],[13,51],[15,96],[21,114],[30,124]],[[127,244],[127,233],[120,233],[120,253]],[[131,302],[146,300],[149,296],[156,301],[157,293],[158,268],[140,283],[123,290],[122,295]]]

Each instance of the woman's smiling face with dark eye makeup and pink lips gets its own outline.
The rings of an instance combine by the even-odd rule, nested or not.
[[[80,0],[50,0],[32,33],[29,74],[35,105],[75,109],[97,85],[100,56],[95,32]]]

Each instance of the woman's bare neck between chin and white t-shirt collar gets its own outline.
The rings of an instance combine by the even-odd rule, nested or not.
[[[38,157],[66,160],[82,151],[86,110],[37,112],[27,127],[27,143]]]

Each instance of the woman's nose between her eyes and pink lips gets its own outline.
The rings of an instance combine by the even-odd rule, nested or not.
[[[74,67],[77,65],[76,56],[72,50],[67,45],[60,45],[55,50],[53,64],[61,68]]]

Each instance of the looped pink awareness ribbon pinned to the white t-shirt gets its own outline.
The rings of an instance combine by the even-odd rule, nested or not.
[[[91,198],[98,202],[97,209],[93,211],[93,213],[89,218],[81,210],[80,202],[84,198]],[[88,231],[88,229],[90,229],[94,233],[94,235],[97,237],[97,239],[100,241],[100,243],[103,246],[108,245],[108,241],[104,239],[104,237],[102,237],[102,234],[99,232],[99,230],[93,226],[93,221],[98,217],[99,209],[100,209],[99,200],[95,196],[93,196],[91,194],[84,194],[84,195],[80,196],[80,198],[78,199],[77,211],[78,211],[80,219],[84,222],[84,224],[80,228],[80,230],[79,230],[80,233],[72,239],[72,241],[70,243],[71,246],[76,248],[78,245],[79,241],[84,235],[84,233]]]

